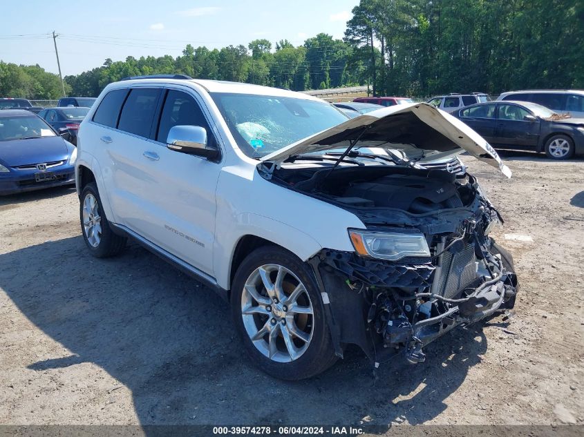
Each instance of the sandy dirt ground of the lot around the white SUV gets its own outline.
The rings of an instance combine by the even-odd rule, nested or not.
[[[464,160],[506,219],[494,232],[516,258],[516,316],[377,380],[357,351],[274,380],[197,282],[135,245],[91,258],[73,189],[0,199],[0,424],[582,424],[584,162],[503,157],[510,181]]]

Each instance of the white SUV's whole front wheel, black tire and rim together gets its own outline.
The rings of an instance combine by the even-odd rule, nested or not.
[[[312,271],[285,249],[264,246],[245,258],[231,309],[249,357],[275,378],[310,378],[337,360]]]

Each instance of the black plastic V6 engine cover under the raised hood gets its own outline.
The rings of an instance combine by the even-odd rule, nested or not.
[[[448,181],[413,175],[388,175],[371,182],[354,182],[344,193],[362,197],[375,206],[426,213],[462,206],[456,187]]]

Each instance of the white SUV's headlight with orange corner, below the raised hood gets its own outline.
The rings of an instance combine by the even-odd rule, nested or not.
[[[429,257],[426,237],[421,233],[375,232],[349,229],[355,251],[361,256],[401,260],[406,256]]]

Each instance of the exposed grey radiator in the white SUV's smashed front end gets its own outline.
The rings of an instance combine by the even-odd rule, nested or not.
[[[457,253],[444,252],[438,293],[444,298],[456,298],[459,291],[476,278],[475,249],[472,244]]]

